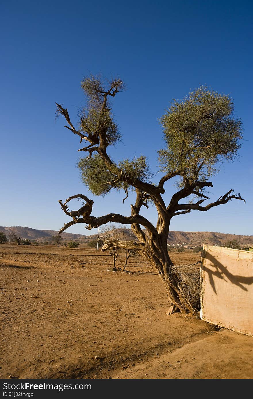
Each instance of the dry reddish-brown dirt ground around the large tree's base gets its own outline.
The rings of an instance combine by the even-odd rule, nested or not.
[[[0,245],[0,378],[253,378],[252,337],[165,316],[151,265],[139,257],[127,271],[95,249]]]

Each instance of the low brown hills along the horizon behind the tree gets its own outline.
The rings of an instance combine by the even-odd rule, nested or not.
[[[0,231],[3,231],[8,238],[9,230],[12,229],[16,234],[20,235],[23,239],[36,240],[36,241],[46,241],[50,239],[53,235],[57,235],[56,230],[36,230],[30,227],[4,227],[0,226]],[[123,229],[121,229],[123,230]],[[72,233],[62,233],[62,238],[64,240],[77,240],[77,241],[90,241],[92,239],[97,239],[98,235],[83,235],[83,234],[72,234]],[[100,234],[102,237],[102,234]],[[134,237],[131,229],[124,229],[124,240],[133,240]],[[168,237],[168,244],[181,244],[181,245],[219,245],[224,246],[226,241],[237,240],[242,246],[253,245],[252,235],[237,235],[237,234],[225,234],[217,233],[213,231],[170,231]]]

